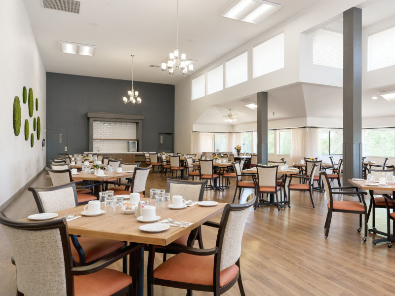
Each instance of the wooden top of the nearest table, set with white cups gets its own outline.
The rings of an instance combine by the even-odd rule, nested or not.
[[[142,198],[142,200],[149,200],[149,198]],[[225,205],[226,203],[218,203],[214,207],[195,205],[182,210],[168,209],[163,213],[157,213],[161,217],[161,220],[171,218],[176,221],[193,223],[188,227],[170,226],[169,229],[157,233],[140,230],[139,226],[145,223],[137,221],[134,214],[115,215],[112,217],[102,214],[96,217],[86,217],[81,216],[83,205],[56,213],[59,214],[59,217],[64,217],[69,213],[71,215],[81,216],[81,218],[67,222],[70,234],[166,246],[202,223],[210,220],[210,218],[222,213]],[[21,221],[33,222],[33,220],[27,218]]]

